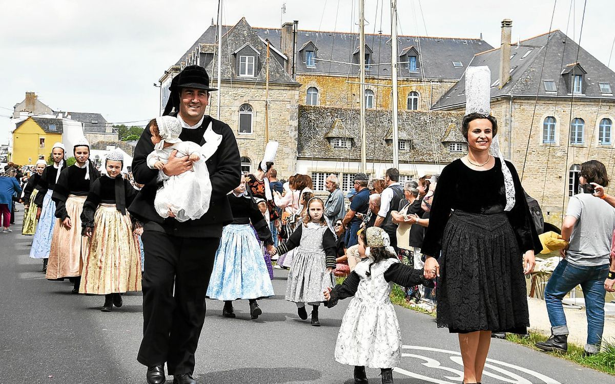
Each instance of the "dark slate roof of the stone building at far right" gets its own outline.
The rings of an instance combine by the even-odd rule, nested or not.
[[[547,45],[547,42],[549,43]],[[577,49],[579,60],[577,60]],[[523,56],[530,51],[525,58]],[[568,76],[562,76],[566,69],[581,68],[587,72],[583,76],[582,94],[575,94],[574,98],[604,98],[615,100],[613,95],[600,93],[598,82],[608,82],[615,89],[615,72],[593,57],[589,52],[579,47],[560,30],[532,37],[520,41],[510,47],[510,54],[516,53],[510,60],[510,68],[515,68],[510,73],[510,80],[499,89],[495,84],[499,80],[500,49],[475,55],[470,66],[488,66],[491,69],[491,99],[501,96],[569,96],[571,81]],[[544,68],[542,63],[544,61]],[[570,66],[572,64],[572,66]],[[577,69],[579,71],[580,69]],[[541,80],[542,71],[542,80]],[[580,73],[580,72],[579,72]],[[565,74],[565,73],[564,73]],[[554,80],[557,84],[557,92],[546,92],[544,80]],[[462,76],[458,83],[453,85],[438,100],[433,109],[447,109],[462,106],[466,103],[466,78]]]

